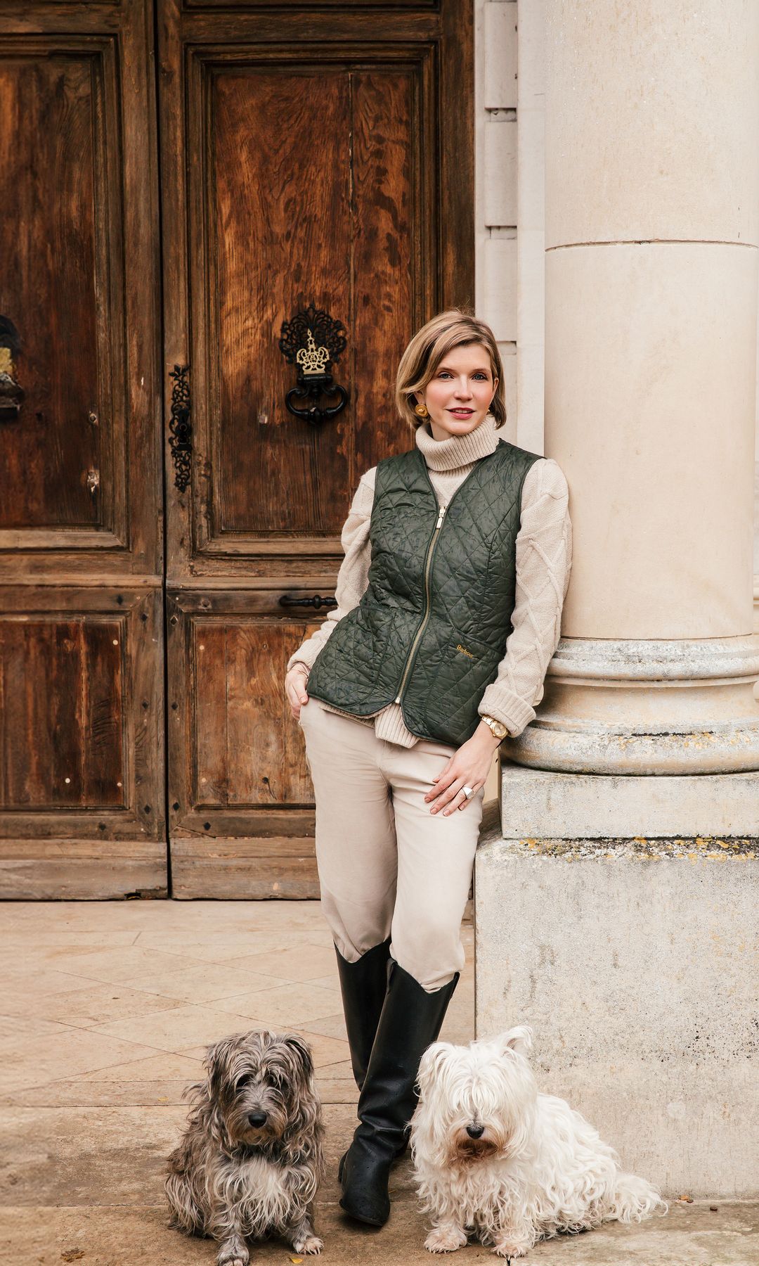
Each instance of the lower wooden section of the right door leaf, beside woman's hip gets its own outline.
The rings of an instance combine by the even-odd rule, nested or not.
[[[315,624],[283,619],[278,594],[190,591],[170,599],[177,896],[316,895],[314,793],[302,732],[282,691],[287,660]],[[254,891],[239,884],[243,857]],[[293,884],[282,886],[286,872]]]

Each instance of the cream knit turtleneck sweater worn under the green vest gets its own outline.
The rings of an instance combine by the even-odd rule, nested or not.
[[[448,505],[474,462],[492,453],[497,443],[498,433],[490,415],[476,430],[448,439],[434,439],[428,423],[417,428],[416,447],[426,461],[439,505]],[[293,663],[302,663],[309,670],[312,667],[338,620],[358,606],[367,587],[376,470],[373,466],[362,476],[343,528],[345,557],[335,586],[338,605],[316,633],[291,656],[288,670]],[[501,720],[510,734],[522,732],[543,698],[543,679],[559,641],[571,565],[567,480],[554,461],[540,458],[530,467],[522,485],[521,523],[516,538],[516,603],[511,617],[514,628],[498,665],[498,675],[486,687],[478,708],[481,715]],[[329,704],[321,706],[338,711]],[[372,717],[354,719],[373,725],[377,737],[388,743],[414,747],[419,742],[416,734],[406,728],[400,704],[387,704]]]

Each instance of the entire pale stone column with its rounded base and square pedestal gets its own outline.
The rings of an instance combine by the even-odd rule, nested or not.
[[[627,1165],[748,1195],[759,6],[546,0],[545,213],[574,565],[478,856],[478,1032],[533,1022]]]

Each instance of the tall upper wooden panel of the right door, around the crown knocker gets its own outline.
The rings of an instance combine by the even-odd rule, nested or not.
[[[292,543],[333,551],[361,473],[407,442],[395,366],[435,306],[436,180],[421,177],[425,154],[433,170],[431,46],[401,47],[390,65],[386,49],[361,46],[328,46],[310,63],[247,56],[194,49],[188,63],[191,148],[207,156],[190,189],[204,477],[175,567],[201,555],[234,568]],[[282,322],[309,304],[348,330],[335,377],[349,403],[319,427],[286,410],[295,379],[278,348]]]

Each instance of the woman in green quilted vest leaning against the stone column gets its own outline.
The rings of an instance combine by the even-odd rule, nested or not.
[[[372,1225],[464,962],[484,781],[535,715],[571,565],[564,476],[497,436],[503,371],[483,322],[428,322],[396,405],[415,447],[362,477],[336,606],[285,679],[361,1091],[340,1204]]]

